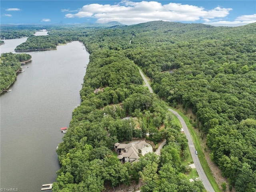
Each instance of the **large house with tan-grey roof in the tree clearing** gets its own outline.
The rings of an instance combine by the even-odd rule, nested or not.
[[[125,162],[132,163],[140,158],[138,155],[139,150],[142,150],[146,146],[147,146],[147,143],[143,140],[143,141],[138,142],[137,144],[115,143],[114,148],[115,148],[115,152],[118,154],[117,158],[122,163],[125,163]]]

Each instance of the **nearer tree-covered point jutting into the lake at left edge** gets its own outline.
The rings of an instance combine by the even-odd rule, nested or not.
[[[31,59],[30,54],[2,53],[0,57],[0,92],[6,90],[16,79],[21,62]]]

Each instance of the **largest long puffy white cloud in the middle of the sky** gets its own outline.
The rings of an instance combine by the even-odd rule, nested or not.
[[[119,4],[88,4],[76,14],[66,14],[66,18],[95,18],[98,23],[118,21],[124,24],[138,24],[153,20],[195,22],[223,18],[232,10],[217,6],[212,10],[194,5],[169,3],[161,4],[156,1],[132,2],[122,1]]]

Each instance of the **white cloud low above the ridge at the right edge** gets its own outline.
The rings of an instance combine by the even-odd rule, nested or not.
[[[250,23],[256,22],[256,14],[253,15],[242,15],[238,16],[234,21],[210,21],[210,20],[205,20],[206,22],[204,24],[208,25],[213,25],[213,26],[242,26],[242,25],[247,25]]]

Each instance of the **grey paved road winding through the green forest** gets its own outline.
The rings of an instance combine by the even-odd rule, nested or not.
[[[152,88],[150,87],[150,85],[148,84],[148,81],[146,80],[144,74],[141,72],[141,70],[139,69],[140,71],[140,75],[142,76],[144,82],[146,83],[145,86],[148,87],[150,93],[153,93],[153,90]],[[208,192],[214,192],[214,189],[212,188],[212,185],[210,184],[208,178],[206,177],[206,174],[202,168],[202,165],[199,161],[199,158],[198,158],[198,155],[195,154],[195,151],[196,151],[196,148],[194,146],[194,143],[193,143],[193,140],[192,140],[192,137],[189,133],[189,130],[188,130],[188,127],[184,121],[184,119],[178,114],[178,112],[172,110],[172,109],[168,109],[170,112],[172,112],[174,115],[176,115],[178,117],[178,119],[180,120],[180,123],[182,125],[182,128],[184,130],[184,133],[186,135],[186,138],[188,139],[188,147],[189,147],[189,150],[190,150],[190,153],[191,153],[191,156],[192,156],[192,159],[194,161],[194,164],[196,166],[196,170],[198,172],[198,175],[200,177],[200,179],[202,180],[202,183],[204,185],[204,188],[208,191]]]

